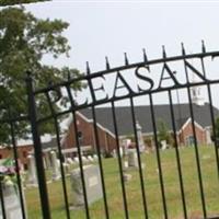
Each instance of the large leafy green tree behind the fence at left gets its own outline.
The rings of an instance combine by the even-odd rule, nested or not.
[[[45,88],[48,83],[57,83],[69,77],[78,77],[77,69],[61,69],[43,64],[43,58],[51,55],[57,59],[60,55],[68,56],[70,46],[62,32],[68,27],[61,20],[42,20],[26,12],[23,7],[10,7],[0,11],[0,119],[19,117],[27,114],[27,97],[25,72],[33,73],[36,88]],[[72,84],[74,91],[83,85]],[[51,93],[55,99],[56,92]],[[59,111],[66,99],[56,104]],[[45,95],[38,96],[37,110],[39,115],[49,115],[50,110]],[[30,125],[16,123],[18,136],[24,137]],[[0,127],[0,143],[9,141],[9,126]],[[53,131],[53,124],[42,126],[42,132]]]

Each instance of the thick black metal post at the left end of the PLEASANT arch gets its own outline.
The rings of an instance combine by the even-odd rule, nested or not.
[[[33,145],[34,145],[34,154],[35,154],[35,161],[36,161],[42,214],[43,214],[44,219],[50,219],[48,193],[47,193],[46,176],[44,172],[44,162],[43,162],[43,153],[42,153],[42,143],[41,143],[41,138],[39,138],[39,132],[38,132],[38,127],[37,127],[36,104],[35,104],[35,96],[33,92],[33,79],[31,77],[31,72],[27,72],[26,89],[27,89],[28,116],[31,120],[31,128],[32,128],[32,135],[33,135]]]

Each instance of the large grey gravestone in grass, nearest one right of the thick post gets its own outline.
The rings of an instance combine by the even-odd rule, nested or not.
[[[83,174],[88,203],[92,204],[103,197],[99,166],[84,165]],[[73,195],[73,206],[83,206],[84,197],[80,169],[76,169],[71,172],[71,188]]]

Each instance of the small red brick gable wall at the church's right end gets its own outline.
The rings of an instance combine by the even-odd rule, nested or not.
[[[195,135],[198,143],[206,143],[206,132],[197,125],[195,125]],[[183,130],[181,130],[178,135],[180,142],[185,145],[186,138],[188,138],[189,136],[194,136],[193,126],[191,122],[183,128]]]

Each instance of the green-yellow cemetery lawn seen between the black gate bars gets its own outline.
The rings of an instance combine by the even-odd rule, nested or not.
[[[199,147],[200,166],[203,173],[203,185],[205,191],[205,201],[207,215],[219,215],[219,178],[216,166],[216,154],[214,147]],[[178,183],[177,164],[175,149],[160,151],[162,161],[162,173],[164,181],[165,198],[169,218],[184,218],[182,208],[181,189]],[[180,149],[182,163],[183,182],[185,191],[185,201],[188,216],[201,216],[201,201],[197,175],[197,165],[195,159],[195,148]],[[148,204],[148,215],[150,219],[163,218],[162,197],[160,192],[159,172],[155,152],[141,154],[141,161],[146,168],[142,170],[145,178],[145,192]],[[117,159],[103,159],[104,178],[107,196],[110,218],[125,218],[120,177]],[[145,218],[142,208],[142,196],[137,170],[128,170],[131,180],[126,182],[126,194],[128,203],[129,218]],[[49,175],[49,174],[48,174]],[[70,177],[66,177],[69,204],[72,204],[72,194],[70,187]],[[65,201],[62,196],[61,181],[48,184],[48,194],[50,200],[50,210],[53,219],[65,219]],[[41,218],[41,205],[37,188],[26,188],[26,206],[30,219]],[[71,218],[85,219],[84,209],[70,210]],[[90,216],[94,219],[105,218],[103,199],[95,201],[90,206]]]

